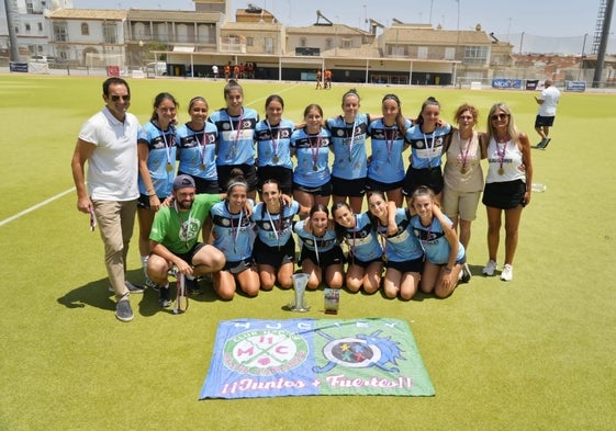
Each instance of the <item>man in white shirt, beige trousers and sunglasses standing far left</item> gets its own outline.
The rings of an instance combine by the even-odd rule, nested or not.
[[[96,216],[104,245],[104,262],[113,293],[115,317],[133,319],[128,296],[143,287],[125,280],[126,254],[133,236],[139,190],[137,188],[137,135],[139,122],[126,112],[128,83],[116,77],[102,86],[105,107],[81,127],[72,155],[77,209]],[[85,165],[88,161],[88,188]]]

